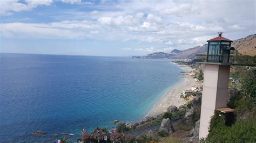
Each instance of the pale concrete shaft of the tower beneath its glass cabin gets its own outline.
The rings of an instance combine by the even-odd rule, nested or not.
[[[214,110],[227,106],[229,77],[229,65],[205,63],[199,139],[207,137]]]

